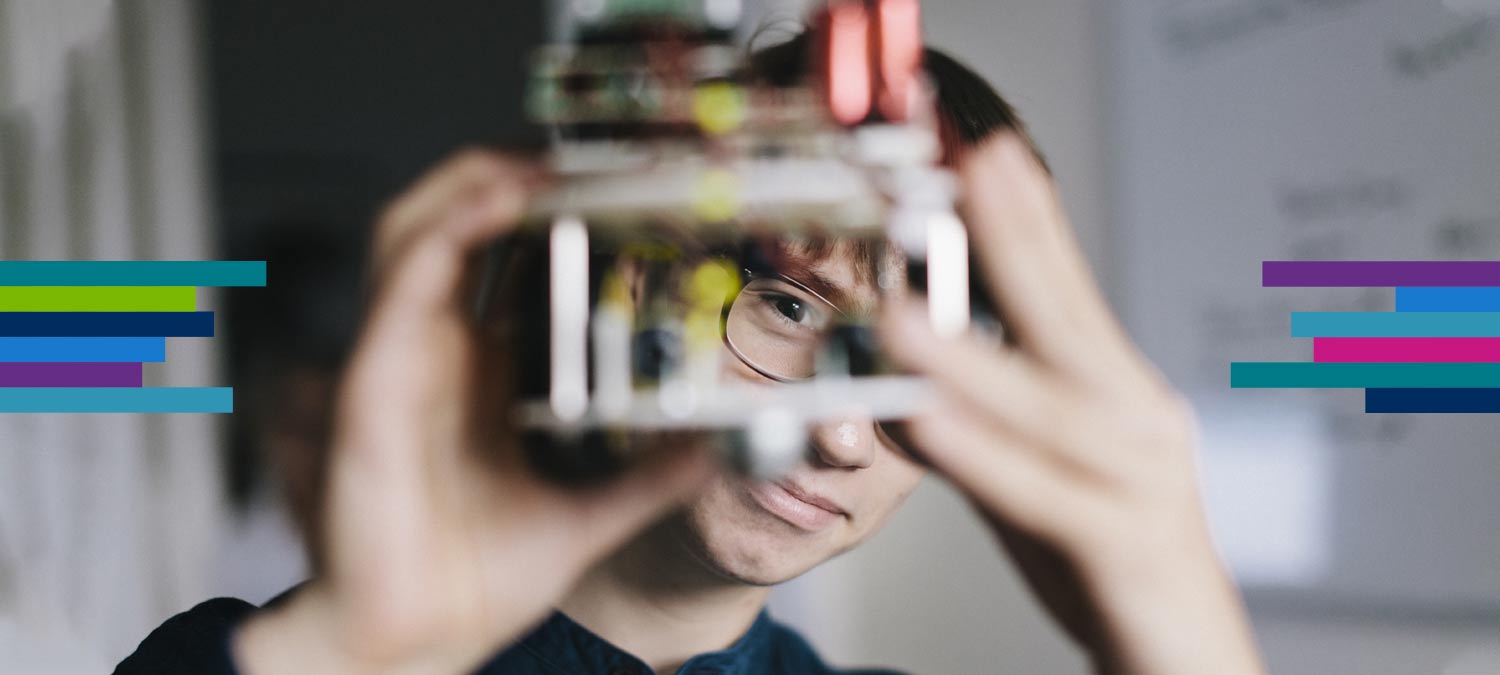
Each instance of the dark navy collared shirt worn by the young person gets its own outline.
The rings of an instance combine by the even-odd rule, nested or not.
[[[116,675],[236,675],[230,636],[255,606],[220,597],[166,620]],[[734,645],[699,654],[678,675],[882,675],[892,670],[836,670],[828,668],[795,630],[766,612]],[[496,654],[476,675],[651,675],[640,658],[609,644],[561,612]]]

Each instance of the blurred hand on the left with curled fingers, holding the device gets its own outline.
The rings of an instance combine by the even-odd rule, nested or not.
[[[540,172],[466,152],[381,218],[374,304],[344,375],[322,501],[322,568],[254,615],[250,674],[458,674],[546,615],[590,564],[699,484],[670,452],[588,490],[542,482],[504,420],[504,363],[465,316],[474,249],[522,214]]]

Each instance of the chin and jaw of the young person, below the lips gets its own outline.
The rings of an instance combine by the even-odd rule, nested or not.
[[[756,506],[742,478],[720,476],[680,514],[681,540],[712,573],[740,584],[777,585],[856,543],[848,519],[801,530]]]

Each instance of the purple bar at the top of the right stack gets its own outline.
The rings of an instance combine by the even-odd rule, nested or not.
[[[1500,286],[1492,260],[1278,261],[1260,266],[1263,286]]]

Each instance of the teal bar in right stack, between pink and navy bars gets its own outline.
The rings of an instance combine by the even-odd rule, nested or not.
[[[1500,363],[1236,362],[1239,388],[1473,388],[1500,387]]]

